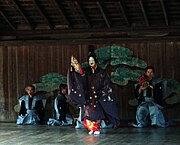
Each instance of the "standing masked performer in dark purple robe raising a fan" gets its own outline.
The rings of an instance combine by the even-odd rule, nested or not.
[[[107,118],[114,127],[119,126],[116,98],[108,74],[98,66],[98,59],[91,49],[89,67],[83,70],[74,56],[71,56],[71,70],[68,71],[68,93],[70,99],[83,109],[84,126],[89,134],[99,135],[101,120]]]

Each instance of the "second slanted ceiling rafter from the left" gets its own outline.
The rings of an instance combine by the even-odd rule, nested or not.
[[[20,14],[23,16],[23,18],[25,19],[26,23],[30,26],[30,28],[33,30],[34,29],[34,25],[32,24],[32,22],[30,21],[30,19],[28,18],[28,16],[25,14],[24,10],[22,9],[22,7],[20,6],[19,2],[17,0],[12,0],[13,4],[15,5],[16,9],[20,12]]]

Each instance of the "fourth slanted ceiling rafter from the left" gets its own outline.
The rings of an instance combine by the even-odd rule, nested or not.
[[[63,19],[65,20],[66,24],[68,25],[69,28],[72,27],[71,23],[69,22],[67,16],[65,15],[65,12],[63,11],[62,5],[60,4],[60,2],[58,2],[57,0],[52,0],[53,3],[56,5],[57,10],[59,11],[59,13],[63,16]]]

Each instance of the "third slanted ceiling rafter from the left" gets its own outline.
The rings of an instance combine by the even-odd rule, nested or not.
[[[35,7],[37,8],[37,10],[39,11],[39,13],[41,14],[41,16],[44,18],[44,20],[46,21],[47,25],[49,26],[49,28],[52,30],[54,29],[54,26],[50,23],[50,20],[48,19],[48,17],[45,15],[45,12],[43,11],[42,7],[38,4],[37,0],[32,0]]]

